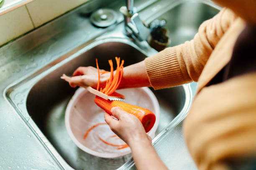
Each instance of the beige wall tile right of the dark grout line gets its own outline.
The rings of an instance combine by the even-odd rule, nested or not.
[[[89,0],[34,0],[27,4],[36,27]]]

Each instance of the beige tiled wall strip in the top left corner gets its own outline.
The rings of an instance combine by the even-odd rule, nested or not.
[[[0,15],[0,46],[89,0],[33,0]]]

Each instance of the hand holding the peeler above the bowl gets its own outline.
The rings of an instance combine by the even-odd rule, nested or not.
[[[105,71],[101,70],[100,72]],[[77,70],[73,72],[73,77],[69,81],[71,87],[77,86],[91,86],[93,88],[97,87],[98,82],[98,70],[95,67],[78,67]],[[100,87],[105,85],[106,81],[110,77],[110,73],[105,73],[100,75]]]

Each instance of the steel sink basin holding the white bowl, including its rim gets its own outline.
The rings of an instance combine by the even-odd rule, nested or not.
[[[54,66],[46,65],[12,85],[6,90],[6,96],[60,167],[76,170],[117,169],[130,160],[131,155],[116,159],[98,158],[84,153],[69,138],[64,124],[64,113],[76,88],[70,87],[60,76],[63,73],[71,75],[79,66],[95,66],[96,57],[100,61],[100,68],[109,70],[106,63],[115,56],[124,59],[125,65],[131,65],[151,55],[150,51],[151,49],[142,50],[128,37],[103,37],[85,45],[64,60],[58,59],[49,64]],[[161,112],[156,131],[158,135],[153,140],[156,141],[168,126],[175,124],[174,118],[178,121],[184,118],[192,95],[188,85],[153,92],[159,101]]]

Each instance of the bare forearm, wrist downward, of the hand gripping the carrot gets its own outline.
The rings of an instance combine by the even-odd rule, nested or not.
[[[151,141],[134,141],[130,147],[138,170],[168,170],[151,145]]]

